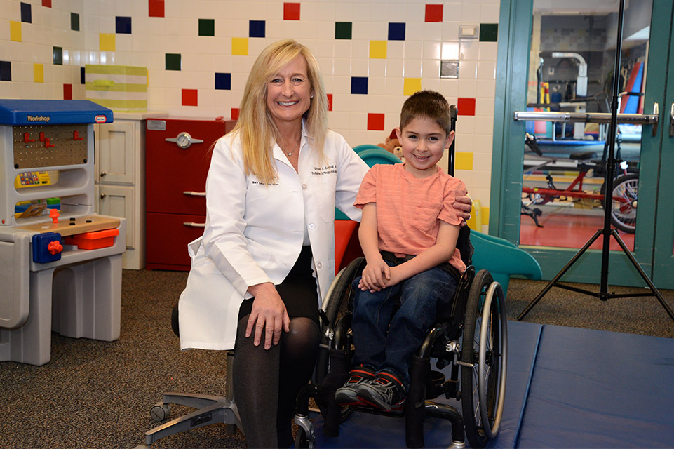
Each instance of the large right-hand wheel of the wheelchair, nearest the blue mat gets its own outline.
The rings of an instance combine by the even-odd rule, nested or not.
[[[473,448],[483,448],[499,431],[506,355],[505,295],[492,275],[480,270],[467,300],[461,342],[461,410]]]

